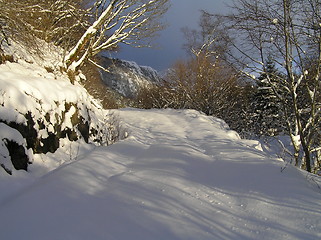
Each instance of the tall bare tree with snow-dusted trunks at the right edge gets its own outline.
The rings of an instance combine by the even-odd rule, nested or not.
[[[266,74],[282,103],[295,164],[320,170],[321,3],[318,0],[238,0],[224,19],[227,58],[247,76],[267,72],[268,56],[285,77]],[[307,65],[307,60],[313,64]],[[282,89],[280,91],[280,89]],[[284,94],[280,94],[280,92]]]

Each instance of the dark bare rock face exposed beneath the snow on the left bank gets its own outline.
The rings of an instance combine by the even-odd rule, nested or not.
[[[5,123],[9,127],[16,129],[20,132],[22,137],[26,140],[26,149],[32,149],[35,154],[37,153],[54,153],[59,148],[59,139],[68,137],[70,141],[77,141],[79,138],[83,138],[86,143],[89,142],[89,138],[98,133],[94,129],[90,129],[90,117],[89,112],[85,120],[80,115],[77,104],[75,103],[64,103],[65,110],[61,114],[55,115],[56,122],[50,123],[50,115],[47,113],[44,119],[35,119],[31,112],[25,114],[26,123],[6,122],[1,119],[0,122]],[[72,107],[75,107],[76,111],[72,115],[70,121],[72,128],[62,129],[62,123],[65,121],[66,113],[70,111]],[[36,126],[37,125],[37,126]],[[52,126],[54,132],[49,132],[47,127]],[[36,129],[47,131],[48,136],[46,138],[39,138]],[[4,143],[10,153],[11,161],[16,170],[27,170],[29,164],[29,158],[26,155],[25,147],[19,145],[15,141],[5,139]],[[6,172],[12,174],[11,170],[5,165],[0,166],[4,168]]]

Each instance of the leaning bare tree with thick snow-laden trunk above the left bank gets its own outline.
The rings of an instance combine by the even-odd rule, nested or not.
[[[97,0],[95,17],[64,59],[64,70],[74,82],[77,70],[90,62],[102,68],[94,57],[120,43],[135,47],[150,46],[150,40],[164,25],[160,17],[168,9],[168,0]]]

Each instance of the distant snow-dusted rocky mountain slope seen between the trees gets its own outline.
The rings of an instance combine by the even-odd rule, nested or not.
[[[155,69],[135,62],[103,57],[101,64],[109,71],[101,70],[103,82],[124,97],[134,97],[140,87],[160,81]]]

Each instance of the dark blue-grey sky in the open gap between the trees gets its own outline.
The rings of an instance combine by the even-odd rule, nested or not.
[[[171,0],[171,8],[164,16],[168,27],[155,39],[155,49],[133,49],[122,46],[114,57],[135,61],[140,65],[151,66],[162,71],[169,68],[175,61],[185,58],[182,45],[185,41],[181,29],[197,28],[202,9],[212,13],[226,11],[226,4],[232,0]]]

